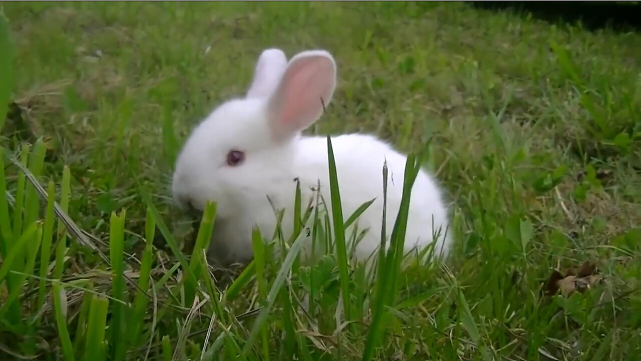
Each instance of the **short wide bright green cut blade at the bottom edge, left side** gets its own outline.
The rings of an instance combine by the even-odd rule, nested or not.
[[[85,339],[85,357],[83,360],[106,360],[104,333],[106,330],[109,299],[103,295],[94,295],[89,308],[87,339]]]

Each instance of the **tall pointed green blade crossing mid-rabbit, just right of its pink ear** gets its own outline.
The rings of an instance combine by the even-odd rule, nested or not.
[[[338,189],[338,175],[334,150],[331,146],[331,137],[327,137],[327,150],[329,160],[329,193],[331,198],[331,213],[334,226],[334,242],[337,249],[338,272],[340,273],[340,290],[343,296],[343,310],[345,320],[351,321],[351,302],[349,301],[349,265],[347,264],[347,247],[345,246],[345,228],[343,224],[343,211]]]

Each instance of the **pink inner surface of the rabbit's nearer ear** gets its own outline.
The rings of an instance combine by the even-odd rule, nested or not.
[[[333,64],[325,57],[298,60],[285,72],[276,121],[288,132],[303,130],[322,114],[333,91]]]

